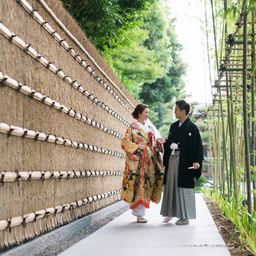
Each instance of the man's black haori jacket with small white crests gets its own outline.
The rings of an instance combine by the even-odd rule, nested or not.
[[[169,131],[168,139],[164,146],[163,166],[167,166],[163,184],[166,184],[166,174],[172,143],[179,143],[180,160],[178,169],[178,186],[182,188],[195,188],[195,178],[199,179],[202,174],[202,161],[204,160],[203,145],[198,127],[188,117],[179,127],[180,120],[172,123]],[[193,166],[193,163],[199,163],[198,169],[188,169]]]

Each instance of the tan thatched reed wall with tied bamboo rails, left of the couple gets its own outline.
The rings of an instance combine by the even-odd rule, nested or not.
[[[115,88],[119,100],[102,86],[105,81],[113,88],[41,3],[26,2],[55,33],[24,3],[0,1],[1,249],[119,200],[125,164],[120,137],[133,121],[127,110],[132,105]],[[61,2],[46,3],[136,105]],[[58,42],[57,33],[65,41]]]

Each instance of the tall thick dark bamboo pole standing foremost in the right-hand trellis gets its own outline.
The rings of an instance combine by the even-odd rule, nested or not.
[[[247,201],[248,212],[252,215],[252,198],[251,198],[251,177],[250,177],[250,150],[248,136],[248,111],[247,111],[247,13],[244,14],[244,44],[243,44],[243,116],[244,116],[244,147],[245,147],[245,166],[246,166],[246,183],[247,183]],[[249,218],[250,218],[249,215]]]

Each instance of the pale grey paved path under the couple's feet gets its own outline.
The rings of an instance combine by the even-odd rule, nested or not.
[[[128,210],[59,256],[230,256],[202,195],[195,199],[197,219],[189,225],[163,223],[161,203],[151,203],[148,223]]]

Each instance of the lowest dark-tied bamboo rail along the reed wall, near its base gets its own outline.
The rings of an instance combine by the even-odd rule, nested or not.
[[[121,189],[111,191],[111,192],[101,194],[101,195],[94,195],[90,198],[81,199],[81,200],[73,202],[73,203],[62,204],[59,206],[42,209],[42,210],[39,210],[36,212],[27,213],[22,216],[11,217],[6,220],[0,221],[0,230],[6,230],[7,228],[10,229],[11,227],[19,226],[21,224],[25,224],[25,223],[32,222],[32,221],[36,221],[40,218],[45,218],[48,215],[53,215],[53,214],[56,214],[59,212],[69,210],[69,209],[75,209],[76,207],[81,207],[84,204],[92,203],[94,201],[97,201],[97,200],[100,200],[103,198],[107,198],[111,195],[117,195],[120,192],[121,192]]]

